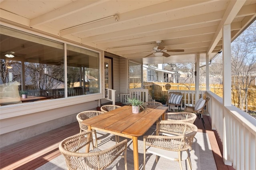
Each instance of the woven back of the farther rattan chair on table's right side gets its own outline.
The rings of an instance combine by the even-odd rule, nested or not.
[[[196,120],[196,114],[190,112],[176,112],[176,113],[165,113],[164,120],[171,120],[176,122],[188,122],[194,123]]]

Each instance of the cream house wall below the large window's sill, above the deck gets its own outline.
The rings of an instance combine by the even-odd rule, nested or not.
[[[75,122],[84,110],[95,110],[98,101],[84,102],[0,120],[0,147],[28,139],[35,135]],[[78,132],[79,133],[79,132]]]

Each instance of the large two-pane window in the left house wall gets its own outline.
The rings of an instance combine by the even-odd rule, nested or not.
[[[64,43],[0,28],[1,105],[100,92],[99,53],[67,45],[65,81]]]

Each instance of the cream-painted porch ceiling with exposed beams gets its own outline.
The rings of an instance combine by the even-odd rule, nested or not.
[[[1,0],[2,23],[55,35],[144,64],[209,60],[256,19],[256,0]],[[170,57],[150,55],[156,41]]]

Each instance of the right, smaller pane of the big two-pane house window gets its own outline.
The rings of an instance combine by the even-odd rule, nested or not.
[[[68,96],[100,92],[99,53],[67,45]]]

